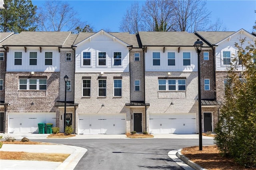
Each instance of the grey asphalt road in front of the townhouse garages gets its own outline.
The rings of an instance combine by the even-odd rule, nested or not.
[[[87,148],[75,170],[183,170],[168,157],[170,150],[198,145],[198,139],[47,139]],[[204,139],[203,145],[213,144]]]

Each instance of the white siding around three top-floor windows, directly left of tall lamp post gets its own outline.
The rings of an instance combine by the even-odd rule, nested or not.
[[[160,65],[153,65],[153,52],[160,52]],[[168,52],[175,53],[175,65],[168,65]],[[190,65],[183,65],[183,53],[190,53]],[[146,71],[197,71],[197,53],[192,47],[148,47],[145,53]]]

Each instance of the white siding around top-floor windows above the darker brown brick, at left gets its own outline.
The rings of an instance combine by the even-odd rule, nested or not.
[[[14,65],[14,52],[22,52],[22,65]],[[37,52],[37,65],[29,64],[30,52]],[[45,65],[45,52],[52,52],[52,65]],[[60,71],[60,53],[53,47],[42,47],[42,52],[39,47],[27,47],[27,52],[24,47],[9,48],[6,71]]]

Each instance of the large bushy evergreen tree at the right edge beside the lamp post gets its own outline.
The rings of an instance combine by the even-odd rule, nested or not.
[[[228,70],[215,143],[222,154],[252,168],[256,167],[256,42],[243,47],[245,41],[235,44],[238,58],[232,59]]]

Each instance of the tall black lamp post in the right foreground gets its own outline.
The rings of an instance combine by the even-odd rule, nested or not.
[[[202,146],[202,104],[201,104],[201,75],[200,75],[200,52],[203,47],[203,42],[197,39],[194,43],[198,58],[198,121],[199,121],[199,150],[203,150]]]

